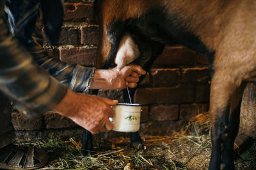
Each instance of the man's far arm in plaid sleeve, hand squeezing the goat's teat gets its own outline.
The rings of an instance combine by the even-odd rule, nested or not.
[[[33,38],[26,48],[41,67],[75,92],[84,92],[88,89],[125,89],[126,82],[128,87],[136,87],[141,74],[146,73],[140,66],[132,64],[125,66],[120,71],[117,71],[116,67],[95,70],[93,67],[67,64],[49,56],[44,48],[37,43],[36,38]]]

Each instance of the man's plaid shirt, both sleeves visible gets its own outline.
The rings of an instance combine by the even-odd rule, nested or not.
[[[76,91],[88,89],[94,70],[49,57],[36,41],[20,45],[0,17],[0,90],[13,99],[20,113],[37,117],[51,110],[63,99],[67,86]]]

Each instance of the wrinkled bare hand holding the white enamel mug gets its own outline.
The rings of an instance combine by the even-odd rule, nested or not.
[[[54,110],[60,115],[70,118],[77,125],[96,134],[113,129],[109,117],[115,116],[111,106],[118,101],[113,101],[99,96],[76,94],[68,90],[63,100],[55,106]]]

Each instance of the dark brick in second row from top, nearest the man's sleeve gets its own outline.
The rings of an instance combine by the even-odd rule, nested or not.
[[[77,29],[76,27],[62,27],[58,44],[79,45],[79,43],[79,29]]]

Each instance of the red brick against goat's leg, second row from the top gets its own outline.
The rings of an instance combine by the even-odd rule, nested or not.
[[[85,25],[81,27],[81,44],[97,45],[99,38],[99,25]]]

